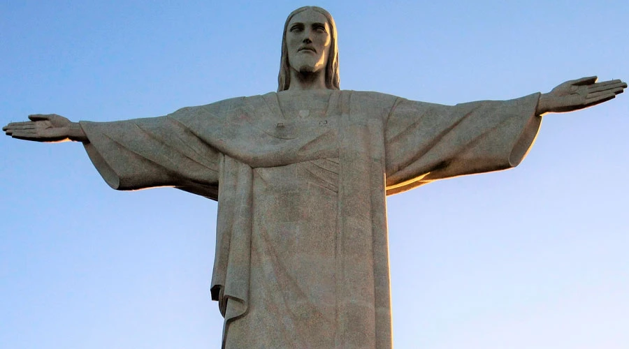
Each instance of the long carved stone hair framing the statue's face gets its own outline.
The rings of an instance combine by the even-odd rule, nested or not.
[[[320,8],[317,6],[304,6],[291,12],[291,14],[287,17],[286,22],[284,23],[284,33],[282,33],[282,57],[280,57],[280,75],[277,77],[277,91],[280,92],[287,90],[291,85],[291,66],[289,63],[289,52],[286,42],[286,33],[288,30],[289,22],[291,22],[291,19],[294,17],[294,15],[301,13],[305,10],[317,11],[318,13],[321,13],[321,15],[324,15],[328,20],[328,25],[331,29],[331,45],[328,53],[328,61],[326,64],[326,87],[328,89],[340,89],[340,77],[338,75],[338,41],[334,19],[332,18],[332,15],[324,8]]]

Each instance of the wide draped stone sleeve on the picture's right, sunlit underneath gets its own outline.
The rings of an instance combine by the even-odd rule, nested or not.
[[[384,135],[386,194],[518,165],[540,128],[539,97],[452,106],[398,98]]]

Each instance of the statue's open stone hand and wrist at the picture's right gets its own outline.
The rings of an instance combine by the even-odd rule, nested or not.
[[[537,103],[537,115],[547,112],[572,112],[591,107],[622,94],[627,88],[626,82],[609,80],[596,82],[595,76],[566,81],[547,94],[542,94]]]

